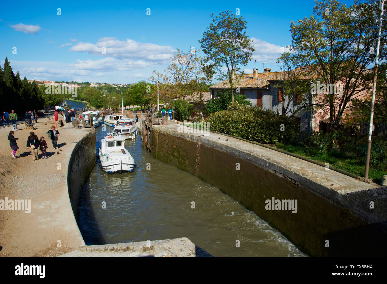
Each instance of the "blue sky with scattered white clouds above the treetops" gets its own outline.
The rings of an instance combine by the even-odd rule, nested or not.
[[[252,72],[255,59],[260,72],[263,62],[275,71],[279,50],[291,43],[291,20],[309,17],[313,6],[313,0],[7,1],[0,12],[0,63],[8,56],[27,79],[134,83],[162,72],[174,49],[199,49],[212,13],[239,8],[256,49],[245,71]]]

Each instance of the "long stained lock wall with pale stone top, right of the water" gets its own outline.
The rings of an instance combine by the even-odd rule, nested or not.
[[[216,186],[311,256],[387,254],[386,187],[235,138],[199,135],[153,126],[152,155]],[[298,212],[266,210],[272,197],[297,199]]]

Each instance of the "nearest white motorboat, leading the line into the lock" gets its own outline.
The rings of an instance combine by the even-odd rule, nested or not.
[[[99,167],[107,173],[133,172],[137,167],[133,155],[125,148],[125,139],[121,135],[108,134],[101,139],[97,158]]]

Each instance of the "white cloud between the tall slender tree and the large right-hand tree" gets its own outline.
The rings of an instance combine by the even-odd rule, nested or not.
[[[281,53],[289,51],[289,49],[284,46],[268,43],[267,41],[263,41],[255,37],[252,37],[251,39],[255,48],[252,60],[274,63]]]

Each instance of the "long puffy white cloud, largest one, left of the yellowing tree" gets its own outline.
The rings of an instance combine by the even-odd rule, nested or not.
[[[103,53],[103,48],[106,53]],[[152,43],[138,43],[131,39],[119,41],[115,37],[103,37],[96,44],[80,42],[70,51],[86,52],[98,56],[119,59],[159,61],[166,63],[175,52],[171,46],[160,46]]]

